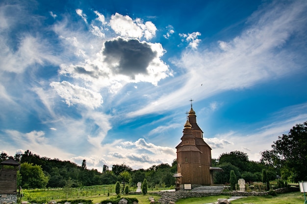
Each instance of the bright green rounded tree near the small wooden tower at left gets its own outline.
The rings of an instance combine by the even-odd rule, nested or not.
[[[23,188],[45,188],[49,181],[42,167],[32,163],[22,163],[20,165],[20,174]]]

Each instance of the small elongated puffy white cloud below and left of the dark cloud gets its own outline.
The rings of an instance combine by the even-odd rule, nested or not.
[[[65,99],[68,106],[82,104],[91,109],[97,108],[102,104],[100,93],[88,90],[84,87],[73,85],[67,81],[51,82],[50,86]]]

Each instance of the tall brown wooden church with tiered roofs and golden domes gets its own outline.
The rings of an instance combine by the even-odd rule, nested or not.
[[[177,187],[184,184],[212,184],[211,148],[203,139],[203,131],[196,122],[192,108],[184,125],[183,136],[177,149]],[[212,167],[211,167],[212,171]]]

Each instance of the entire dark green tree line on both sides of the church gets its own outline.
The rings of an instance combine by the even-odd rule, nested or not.
[[[263,170],[269,181],[277,178],[287,182],[307,181],[307,122],[297,124],[288,134],[279,136],[271,150],[260,154],[260,161],[251,161],[246,153],[237,150],[212,159],[212,166],[224,170],[215,173],[214,183],[229,183],[230,172],[246,182],[262,181]],[[0,162],[8,158],[6,153],[0,154]],[[16,154],[13,159],[21,164],[18,186],[23,188],[63,187],[67,182],[77,187],[115,184],[117,181],[136,186],[137,182],[144,179],[149,188],[170,187],[175,185],[173,174],[177,173],[176,159],[172,165],[162,163],[138,170],[126,164],[114,164],[111,169],[103,165],[102,172],[87,169],[86,160],[78,166],[71,161],[40,157],[29,150],[24,154]]]

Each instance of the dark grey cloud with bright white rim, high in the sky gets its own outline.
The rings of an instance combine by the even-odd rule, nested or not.
[[[125,41],[118,38],[104,43],[103,55],[108,64],[118,63],[113,72],[130,76],[139,73],[147,74],[147,67],[157,55],[147,43],[140,43],[138,40]]]

